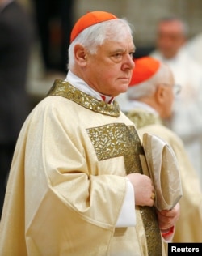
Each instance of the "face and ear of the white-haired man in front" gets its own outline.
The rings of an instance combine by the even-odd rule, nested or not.
[[[133,70],[133,38],[130,34],[119,42],[104,41],[96,54],[87,53],[85,81],[107,96],[126,92]]]

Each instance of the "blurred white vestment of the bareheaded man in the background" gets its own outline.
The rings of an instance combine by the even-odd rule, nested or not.
[[[173,117],[168,126],[183,139],[202,186],[202,67],[186,49],[169,60],[158,51],[151,53],[151,56],[170,66],[175,83],[182,87],[179,95],[175,96]]]

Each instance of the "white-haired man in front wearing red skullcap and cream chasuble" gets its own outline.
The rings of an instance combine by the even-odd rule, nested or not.
[[[133,70],[128,22],[93,11],[74,25],[69,72],[27,117],[11,166],[1,255],[163,255],[179,218],[154,209],[137,130],[114,97]]]

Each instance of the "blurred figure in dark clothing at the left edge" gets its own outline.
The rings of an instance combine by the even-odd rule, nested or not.
[[[0,214],[15,141],[30,111],[26,75],[32,25],[19,3],[0,0]]]

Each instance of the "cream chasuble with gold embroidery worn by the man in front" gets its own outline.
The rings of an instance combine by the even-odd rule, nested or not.
[[[153,207],[115,228],[127,173],[141,173],[133,122],[113,105],[56,80],[19,134],[8,180],[0,255],[160,256]]]

